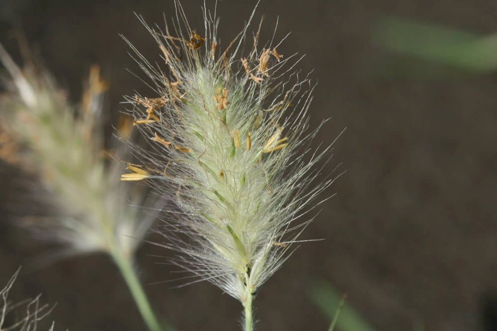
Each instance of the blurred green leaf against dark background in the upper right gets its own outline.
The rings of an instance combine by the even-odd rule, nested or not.
[[[459,69],[497,69],[497,33],[484,36],[390,16],[380,20],[372,40],[387,50]]]

